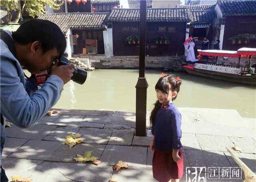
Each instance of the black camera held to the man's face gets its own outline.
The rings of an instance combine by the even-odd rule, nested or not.
[[[58,62],[58,66],[61,65],[70,65],[68,58],[62,56]],[[84,84],[86,78],[87,78],[87,72],[86,70],[82,70],[79,68],[74,68],[73,76],[71,77],[71,80],[78,84]]]

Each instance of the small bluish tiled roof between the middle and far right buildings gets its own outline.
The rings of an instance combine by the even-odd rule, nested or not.
[[[191,24],[211,23],[216,14],[213,10],[190,11]]]

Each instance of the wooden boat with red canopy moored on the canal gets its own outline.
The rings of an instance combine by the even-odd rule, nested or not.
[[[189,74],[256,86],[255,68],[251,66],[251,56],[256,55],[256,48],[241,48],[238,51],[203,50],[199,54],[216,56],[216,63],[206,60],[205,63],[183,66]],[[249,66],[240,66],[242,55],[249,56]],[[218,64],[218,56],[239,58],[238,65]]]

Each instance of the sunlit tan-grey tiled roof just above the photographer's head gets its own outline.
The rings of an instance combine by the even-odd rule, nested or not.
[[[82,29],[106,29],[104,20],[108,13],[55,13],[42,14],[38,18],[49,20],[57,24],[62,32],[66,33],[68,28]]]

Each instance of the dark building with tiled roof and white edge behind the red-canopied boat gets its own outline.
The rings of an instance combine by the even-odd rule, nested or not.
[[[238,50],[242,47],[256,47],[256,1],[219,0],[215,8],[222,19],[220,48]]]

